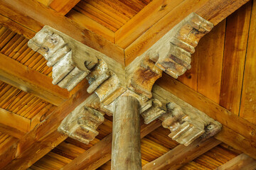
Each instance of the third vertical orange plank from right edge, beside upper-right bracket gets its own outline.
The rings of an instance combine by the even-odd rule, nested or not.
[[[222,21],[203,37],[201,44],[196,47],[198,50],[195,59],[198,62],[196,64],[198,66],[197,91],[215,103],[220,101],[224,40],[225,21]]]

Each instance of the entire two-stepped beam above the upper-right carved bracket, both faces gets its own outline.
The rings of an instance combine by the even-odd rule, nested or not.
[[[247,1],[179,0],[175,1],[176,6],[174,1],[152,2],[149,4],[155,3],[152,10],[148,7],[140,11],[116,33],[117,45],[125,48],[125,65],[142,55],[190,13],[196,13],[216,26]]]

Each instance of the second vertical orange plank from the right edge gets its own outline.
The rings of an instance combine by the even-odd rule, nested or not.
[[[220,106],[238,115],[252,1],[227,18]],[[210,75],[210,74],[208,74]],[[209,76],[210,77],[210,76]]]

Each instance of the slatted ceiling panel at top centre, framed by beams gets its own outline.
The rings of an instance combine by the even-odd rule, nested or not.
[[[67,16],[73,18],[73,15],[79,16],[80,13],[115,32],[149,2],[150,0],[82,0]]]

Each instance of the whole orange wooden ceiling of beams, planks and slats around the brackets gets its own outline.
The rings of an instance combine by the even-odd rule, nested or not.
[[[105,115],[97,129],[100,134],[89,145],[56,131],[89,94],[86,81],[70,92],[51,84],[47,61],[27,46],[28,39],[44,25],[127,65],[191,12],[215,27],[199,42],[186,74],[178,80],[164,74],[156,84],[218,120],[223,130],[203,144],[183,147],[168,137],[169,130],[159,121],[142,125],[142,166],[149,169],[154,160],[170,159],[162,169],[255,167],[256,1],[245,2],[0,1],[1,169],[111,166],[112,117]],[[75,166],[78,162],[82,163]]]

